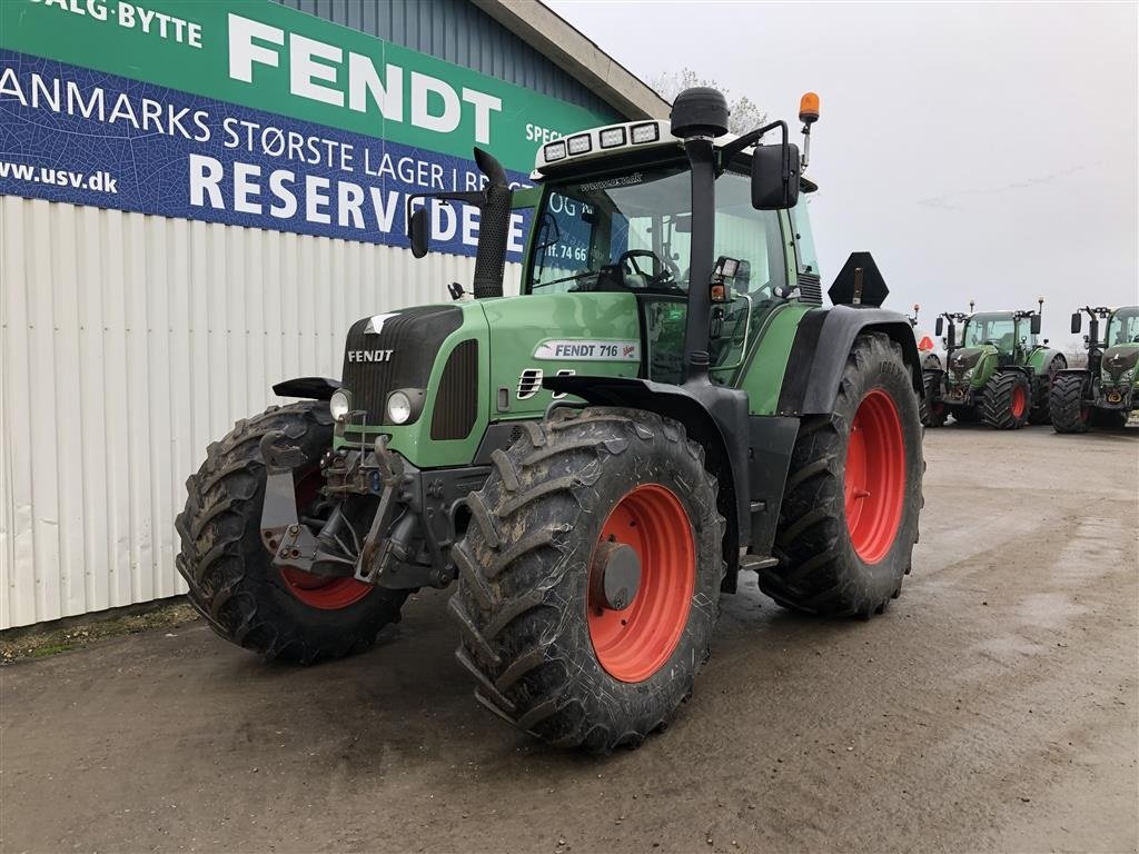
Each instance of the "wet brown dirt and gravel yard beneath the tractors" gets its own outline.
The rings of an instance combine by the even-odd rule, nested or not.
[[[607,759],[483,712],[445,592],[368,655],[200,623],[0,670],[3,852],[1136,851],[1139,430],[927,435],[902,597],[726,597],[673,725]]]

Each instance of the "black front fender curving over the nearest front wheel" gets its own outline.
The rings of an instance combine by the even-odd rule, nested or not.
[[[581,375],[547,377],[542,385],[589,403],[644,409],[685,425],[689,437],[704,449],[704,463],[720,484],[719,510],[727,519],[723,558],[728,572],[723,589],[735,592],[739,547],[749,542],[752,525],[747,394],[711,384],[675,386],[649,379]]]

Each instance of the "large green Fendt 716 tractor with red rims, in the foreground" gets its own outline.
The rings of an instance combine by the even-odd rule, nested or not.
[[[809,142],[816,96],[800,117]],[[178,518],[210,625],[313,662],[457,582],[478,701],[604,753],[689,697],[740,572],[788,608],[883,611],[921,507],[913,334],[867,253],[822,306],[805,156],[785,122],[735,138],[727,120],[690,89],[671,124],[543,146],[533,189],[476,150],[482,191],[426,199],[480,208],[473,295],[361,319],[339,381],[281,383],[310,400],[210,446]],[[427,229],[421,207],[416,255]]]

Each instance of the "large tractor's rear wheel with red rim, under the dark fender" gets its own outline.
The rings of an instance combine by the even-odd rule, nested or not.
[[[860,335],[834,413],[800,425],[779,509],[779,565],[760,570],[760,588],[812,614],[884,611],[910,570],[924,469],[901,347],[880,332]]]

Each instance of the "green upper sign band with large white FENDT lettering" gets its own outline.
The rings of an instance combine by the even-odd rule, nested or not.
[[[269,0],[0,0],[0,49],[521,172],[615,121]]]

